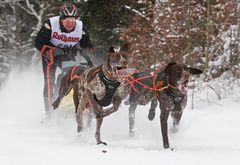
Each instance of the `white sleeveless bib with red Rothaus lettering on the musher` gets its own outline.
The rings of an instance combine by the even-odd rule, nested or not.
[[[75,29],[72,32],[61,32],[60,29],[60,16],[52,17],[49,19],[52,34],[50,42],[58,47],[66,48],[76,45],[82,38],[82,21],[76,20]]]

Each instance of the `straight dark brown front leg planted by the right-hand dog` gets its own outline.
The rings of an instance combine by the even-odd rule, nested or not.
[[[161,130],[162,130],[163,147],[167,149],[169,148],[167,120],[168,120],[170,111],[164,109],[163,107],[161,107],[160,109],[161,109],[160,122],[161,122]]]

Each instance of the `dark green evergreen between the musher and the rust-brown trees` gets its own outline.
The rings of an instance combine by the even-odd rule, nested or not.
[[[129,0],[80,1],[80,18],[89,29],[96,47],[108,48],[120,43],[119,33],[128,25],[131,12],[125,8]]]

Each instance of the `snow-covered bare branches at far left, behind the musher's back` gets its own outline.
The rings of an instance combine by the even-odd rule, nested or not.
[[[0,3],[0,77],[2,79],[8,74],[12,63],[21,65],[31,63],[35,53],[34,37],[42,24],[46,6],[47,3],[44,1],[33,0],[5,0]]]

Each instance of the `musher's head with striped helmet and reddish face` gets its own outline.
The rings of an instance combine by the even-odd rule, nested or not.
[[[60,9],[60,20],[63,27],[67,31],[71,31],[75,28],[76,18],[78,17],[78,9],[72,3],[65,3]]]

